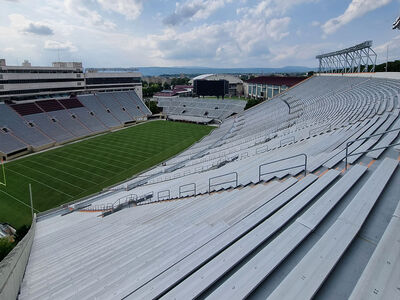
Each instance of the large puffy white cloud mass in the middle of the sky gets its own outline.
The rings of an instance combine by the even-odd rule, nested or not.
[[[286,37],[290,18],[269,22],[243,18],[221,24],[202,25],[179,33],[168,29],[148,38],[155,57],[180,64],[240,64],[268,55],[268,46]]]

